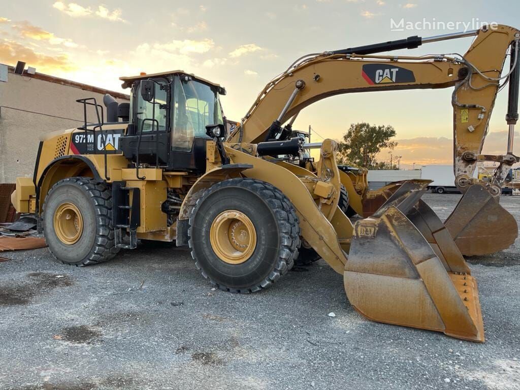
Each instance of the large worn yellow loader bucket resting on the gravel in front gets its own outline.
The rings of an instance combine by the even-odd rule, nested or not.
[[[347,297],[373,321],[484,342],[476,281],[443,224],[420,201],[427,184],[407,181],[356,222],[344,272]]]

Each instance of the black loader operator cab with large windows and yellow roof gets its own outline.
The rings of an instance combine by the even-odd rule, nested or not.
[[[124,156],[140,166],[203,173],[212,139],[206,126],[225,123],[219,100],[225,88],[183,71],[120,80],[132,88],[128,130],[121,137]]]

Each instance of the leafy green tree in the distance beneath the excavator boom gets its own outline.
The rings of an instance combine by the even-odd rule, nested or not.
[[[340,164],[381,169],[381,163],[376,162],[375,157],[381,149],[397,146],[396,141],[391,141],[395,134],[395,129],[389,125],[353,123],[339,142],[337,160]]]

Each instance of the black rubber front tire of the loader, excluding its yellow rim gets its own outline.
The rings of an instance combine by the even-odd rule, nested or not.
[[[244,213],[256,229],[256,248],[241,264],[225,263],[211,246],[211,224],[226,210]],[[204,191],[191,212],[188,236],[202,276],[232,293],[270,287],[293,267],[301,245],[300,223],[290,200],[265,181],[249,178],[220,181]]]

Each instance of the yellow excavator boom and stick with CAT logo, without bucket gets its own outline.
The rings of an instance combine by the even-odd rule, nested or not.
[[[323,98],[352,92],[378,90],[447,88],[454,86],[453,140],[454,172],[461,191],[471,185],[471,177],[478,160],[498,161],[503,165],[493,179],[493,191],[499,191],[505,171],[518,159],[512,154],[483,156],[483,142],[498,89],[508,48],[511,47],[512,66],[520,61],[516,55],[520,32],[498,25],[473,32],[425,38],[422,43],[476,35],[464,56],[381,56],[366,55],[381,50],[417,47],[421,38],[326,52],[297,61],[291,68],[272,80],[258,95],[241,126],[230,135],[230,143],[253,143],[272,138],[281,124],[311,103]],[[407,41],[407,42],[405,42]],[[356,51],[363,53],[355,54]],[[514,61],[516,60],[516,62]],[[517,73],[512,72],[510,101],[518,90]],[[513,83],[512,83],[513,84]],[[518,93],[516,92],[516,99]],[[514,100],[514,99],[513,99]],[[511,107],[511,103],[510,103]],[[514,113],[508,113],[508,118]],[[516,116],[517,118],[517,116]],[[512,120],[508,119],[508,123]],[[514,121],[515,122],[515,121]],[[513,125],[514,126],[514,125]],[[514,128],[513,128],[514,131]],[[512,132],[510,125],[510,132]],[[511,138],[511,137],[510,137]],[[500,192],[498,192],[500,193]]]

